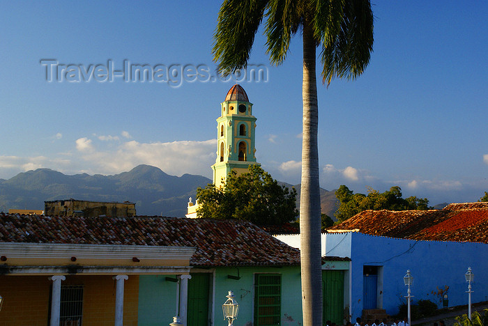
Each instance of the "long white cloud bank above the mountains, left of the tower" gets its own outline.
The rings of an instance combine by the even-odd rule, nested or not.
[[[97,143],[98,141],[98,143]],[[170,175],[184,173],[211,178],[217,140],[174,141],[170,143],[121,143],[99,141],[98,137],[76,140],[72,150],[55,157],[16,157],[0,155],[0,178],[11,178],[31,169],[47,168],[66,174],[116,174],[130,171],[139,164],[157,166]]]

